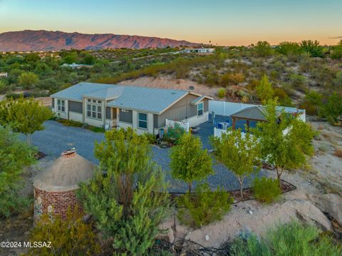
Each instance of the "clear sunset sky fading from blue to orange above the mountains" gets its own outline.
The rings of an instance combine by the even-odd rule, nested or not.
[[[0,0],[0,33],[24,29],[331,45],[342,39],[342,0]]]

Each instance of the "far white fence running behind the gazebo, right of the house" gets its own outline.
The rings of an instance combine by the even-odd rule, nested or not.
[[[242,111],[244,108],[255,107],[259,105],[245,104],[245,103],[234,103],[227,101],[209,101],[209,113],[214,111],[215,115],[219,116],[230,116],[237,111]],[[278,108],[284,108],[287,113],[299,113],[299,118],[306,122],[306,112],[305,109],[297,109],[279,106]]]

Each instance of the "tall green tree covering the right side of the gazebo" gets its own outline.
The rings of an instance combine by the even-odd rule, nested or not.
[[[314,153],[315,132],[298,116],[278,111],[276,103],[276,100],[269,101],[264,113],[266,122],[257,123],[253,133],[261,145],[262,159],[274,165],[280,186],[284,170],[301,168]]]

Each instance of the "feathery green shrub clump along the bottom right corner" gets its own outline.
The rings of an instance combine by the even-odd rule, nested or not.
[[[328,235],[320,235],[317,227],[290,222],[268,230],[261,239],[253,234],[237,238],[231,244],[229,255],[338,256],[341,253],[341,245],[336,245]]]

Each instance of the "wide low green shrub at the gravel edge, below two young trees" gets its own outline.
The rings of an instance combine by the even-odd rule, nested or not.
[[[195,194],[186,193],[177,198],[177,204],[182,207],[177,217],[186,225],[201,227],[222,220],[232,203],[232,196],[222,188],[212,191],[207,183],[199,184]]]

